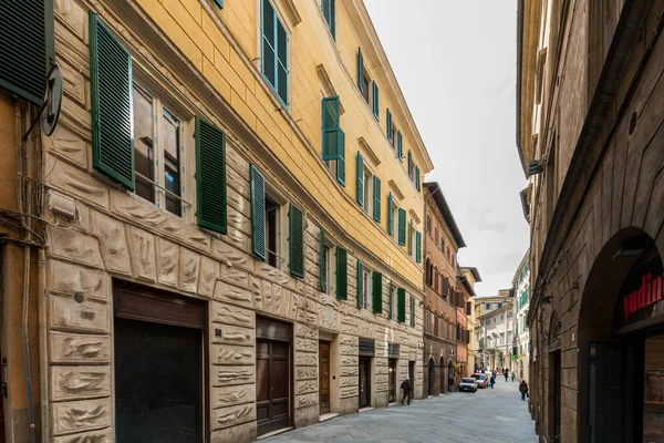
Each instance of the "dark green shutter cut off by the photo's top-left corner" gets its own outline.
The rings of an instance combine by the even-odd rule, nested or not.
[[[2,0],[0,23],[0,87],[41,105],[54,61],[53,1]]]

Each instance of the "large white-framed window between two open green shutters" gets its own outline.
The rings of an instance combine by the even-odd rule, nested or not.
[[[137,196],[180,216],[184,190],[184,126],[162,100],[134,83],[134,172]]]

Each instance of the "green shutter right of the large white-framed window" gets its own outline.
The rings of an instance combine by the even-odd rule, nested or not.
[[[226,234],[226,134],[196,117],[196,215],[198,225]]]

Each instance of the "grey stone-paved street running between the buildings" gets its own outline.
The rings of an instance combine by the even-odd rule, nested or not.
[[[518,382],[498,377],[495,389],[458,392],[344,415],[263,442],[535,443],[528,402]]]

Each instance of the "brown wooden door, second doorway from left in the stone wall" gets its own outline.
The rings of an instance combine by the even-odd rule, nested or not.
[[[258,435],[290,425],[290,343],[256,340]]]

